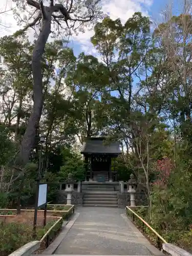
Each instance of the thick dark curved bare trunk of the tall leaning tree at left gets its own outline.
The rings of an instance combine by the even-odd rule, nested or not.
[[[42,29],[39,33],[39,37],[33,50],[32,72],[34,103],[27,129],[20,146],[19,160],[22,164],[26,164],[29,161],[42,112],[44,95],[42,93],[41,57],[44,53],[44,48],[51,32],[51,14],[51,11],[47,11],[46,19],[42,19]]]

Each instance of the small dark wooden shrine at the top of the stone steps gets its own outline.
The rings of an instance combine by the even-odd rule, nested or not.
[[[112,159],[121,154],[118,142],[109,142],[105,137],[86,138],[81,154],[84,156],[89,181],[116,181],[115,166],[112,166]]]

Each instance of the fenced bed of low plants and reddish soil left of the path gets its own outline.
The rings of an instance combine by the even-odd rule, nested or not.
[[[44,211],[37,212],[37,237],[35,240],[40,240],[44,234],[51,228],[51,226],[58,220],[53,217],[62,217],[63,220],[68,219],[73,214],[73,208],[69,210],[72,205],[48,205],[47,212],[47,225],[42,227]],[[13,251],[22,247],[26,243],[33,241],[33,210],[22,210],[18,216],[10,216],[16,214],[16,210],[0,209],[0,256],[8,256]],[[4,218],[4,216],[6,218]],[[52,217],[52,219],[51,219]],[[48,236],[41,243],[40,250],[44,250],[55,239],[59,230],[61,229],[62,222],[54,226]]]

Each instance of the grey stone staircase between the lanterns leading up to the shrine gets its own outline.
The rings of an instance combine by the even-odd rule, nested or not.
[[[117,207],[117,193],[112,184],[89,184],[83,206]]]

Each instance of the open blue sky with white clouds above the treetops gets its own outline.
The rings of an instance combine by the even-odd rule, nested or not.
[[[110,15],[112,19],[120,18],[122,23],[125,23],[135,12],[142,12],[143,15],[150,16],[151,19],[158,24],[162,21],[161,12],[166,9],[166,4],[174,2],[174,12],[178,13],[178,9],[180,9],[179,1],[182,2],[183,0],[101,0],[100,3],[104,13]],[[44,0],[44,4],[46,4],[46,2],[49,4],[49,0]],[[55,0],[55,3],[56,2],[58,2],[58,0]],[[63,3],[65,3],[64,0]],[[7,6],[7,8],[13,6],[12,0],[1,0],[0,12],[4,11],[5,6]],[[1,26],[1,20],[3,26]],[[20,27],[16,25],[16,21],[11,12],[0,14],[0,36],[12,34],[18,29],[20,29]],[[70,39],[69,46],[73,48],[75,55],[84,52],[99,58],[96,49],[93,48],[90,42],[92,35],[93,30],[86,30],[86,33],[80,32],[77,36],[74,35]],[[29,38],[31,38],[31,40],[34,39],[33,30],[29,30]],[[51,39],[51,37],[49,39]]]

